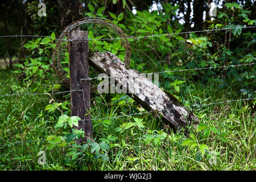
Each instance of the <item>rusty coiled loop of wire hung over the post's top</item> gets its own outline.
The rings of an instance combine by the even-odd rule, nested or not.
[[[59,76],[61,83],[68,87],[69,87],[69,79],[67,77],[67,72],[64,71],[64,69],[61,65],[61,61],[60,61],[60,53],[62,50],[61,44],[65,41],[64,38],[68,35],[68,33],[70,31],[72,31],[77,26],[80,26],[81,24],[85,24],[85,23],[101,24],[102,26],[107,27],[110,30],[112,30],[113,32],[115,32],[119,36],[119,38],[121,38],[120,39],[121,44],[125,48],[125,67],[126,67],[126,69],[130,68],[129,65],[130,65],[131,48],[130,48],[130,44],[127,40],[127,36],[123,33],[121,28],[119,28],[118,26],[116,26],[115,24],[113,24],[106,18],[89,17],[89,18],[80,19],[80,20],[77,20],[76,22],[69,24],[69,26],[67,26],[64,29],[64,31],[61,33],[59,39],[57,40],[57,44],[56,44],[55,50],[52,55],[51,67],[55,70],[55,72]],[[71,39],[69,39],[69,40],[71,40]],[[72,41],[79,42],[79,41],[88,41],[88,40],[77,39],[77,40],[72,40]]]

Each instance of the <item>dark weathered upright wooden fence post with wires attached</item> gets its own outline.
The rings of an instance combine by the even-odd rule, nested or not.
[[[71,31],[69,39],[88,39],[87,31]],[[81,90],[71,92],[71,116],[76,115],[86,121],[79,121],[77,129],[82,129],[86,138],[93,138],[92,121],[90,121],[90,81],[82,81],[81,78],[89,77],[88,41],[77,40],[69,42],[69,75],[70,89]],[[88,120],[89,119],[89,120]],[[82,139],[77,140],[80,143]]]

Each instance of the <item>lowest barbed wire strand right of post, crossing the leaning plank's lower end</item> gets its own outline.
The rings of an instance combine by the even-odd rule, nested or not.
[[[240,99],[240,100],[231,100],[231,101],[222,101],[222,102],[212,102],[210,104],[199,104],[199,105],[191,105],[191,106],[182,106],[182,107],[197,107],[197,106],[209,106],[209,105],[214,105],[214,104],[224,104],[224,103],[229,103],[229,102],[238,102],[238,101],[249,101],[249,100],[255,100],[256,98],[245,98],[245,99]],[[158,111],[167,111],[167,110],[174,110],[175,108],[170,108],[170,109],[163,109],[163,110],[158,110]],[[80,121],[91,121],[91,120],[102,120],[102,119],[115,119],[115,118],[122,118],[122,117],[130,117],[132,115],[141,115],[141,114],[148,114],[148,113],[153,113],[155,111],[146,111],[142,113],[134,113],[134,114],[127,114],[127,115],[118,115],[116,117],[106,117],[106,118],[93,118],[93,119],[81,119]]]

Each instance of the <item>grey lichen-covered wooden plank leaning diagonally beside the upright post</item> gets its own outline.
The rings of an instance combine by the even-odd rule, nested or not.
[[[144,75],[139,74],[139,72],[133,69],[126,69],[125,63],[112,53],[94,53],[89,56],[89,64],[98,71],[104,72],[111,77],[113,76],[115,82],[119,82],[119,84],[127,88],[129,90],[127,94],[144,108],[150,111],[158,110],[158,113],[172,127],[181,128],[187,126],[187,124],[191,125],[193,122],[197,122],[197,118],[194,117],[193,113],[184,108],[175,97],[163,92],[162,89],[153,84]]]

